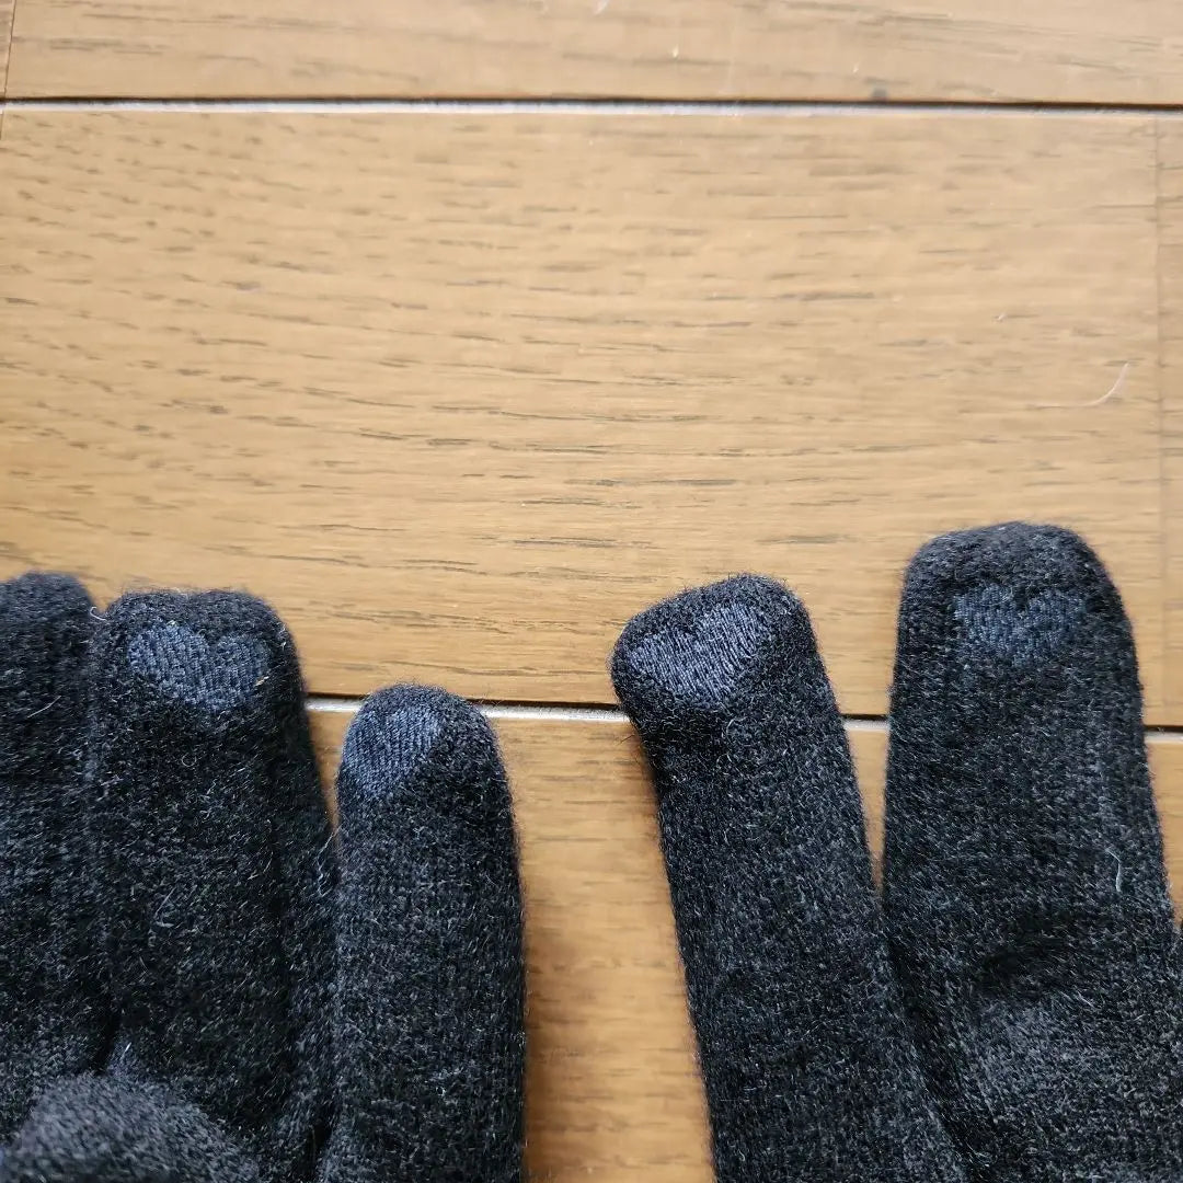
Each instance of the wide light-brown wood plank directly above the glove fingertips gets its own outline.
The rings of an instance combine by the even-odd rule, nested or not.
[[[247,586],[319,693],[610,702],[793,583],[881,713],[927,537],[1082,530],[1163,710],[1152,121],[9,112],[0,574]]]

